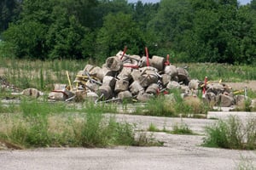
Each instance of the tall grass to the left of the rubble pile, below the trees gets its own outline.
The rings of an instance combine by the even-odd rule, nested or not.
[[[74,80],[78,71],[84,69],[83,60],[27,60],[0,57],[0,68],[8,82],[21,89],[38,88],[51,90],[55,83],[66,83],[66,71]]]

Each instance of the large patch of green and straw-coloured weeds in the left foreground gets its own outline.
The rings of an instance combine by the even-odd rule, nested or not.
[[[137,137],[135,125],[103,116],[109,111],[104,107],[77,109],[63,103],[23,99],[15,113],[6,110],[0,114],[0,139],[25,148],[160,145],[150,135],[140,133]]]

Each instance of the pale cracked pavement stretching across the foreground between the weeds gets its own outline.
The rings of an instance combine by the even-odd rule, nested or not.
[[[215,122],[215,120],[129,115],[117,115],[116,117],[121,122],[137,123],[140,129],[147,129],[150,123],[154,123],[160,129],[164,126],[171,129],[173,124],[185,122],[199,135],[154,133],[155,139],[165,142],[164,147],[129,146],[107,149],[0,150],[0,169],[231,170],[237,169],[239,163],[256,167],[255,150],[224,150],[201,146],[204,127]]]

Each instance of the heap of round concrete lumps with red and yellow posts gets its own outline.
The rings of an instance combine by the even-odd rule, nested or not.
[[[85,65],[74,80],[75,87],[67,73],[69,85],[55,84],[49,99],[92,99],[96,102],[136,99],[146,102],[174,88],[181,89],[183,98],[197,97],[202,90],[204,98],[213,105],[228,107],[245,99],[244,95],[234,95],[224,83],[190,80],[185,68],[169,62],[169,55],[166,58],[154,55],[149,59],[147,49],[146,55],[129,55],[124,50],[106,59],[102,67]]]

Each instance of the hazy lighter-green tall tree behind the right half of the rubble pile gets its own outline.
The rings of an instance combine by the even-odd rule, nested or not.
[[[189,0],[162,0],[154,19],[149,21],[148,30],[157,37],[159,53],[177,47],[177,38],[192,27],[193,11]]]

